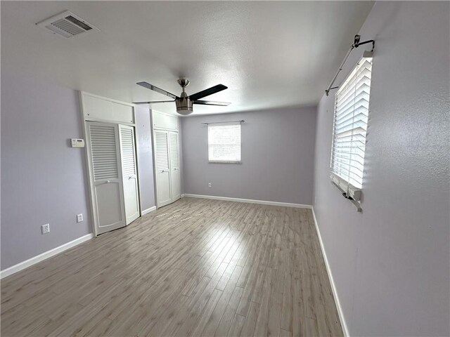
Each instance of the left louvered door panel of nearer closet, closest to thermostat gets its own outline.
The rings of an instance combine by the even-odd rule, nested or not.
[[[96,235],[125,225],[117,124],[86,122]]]

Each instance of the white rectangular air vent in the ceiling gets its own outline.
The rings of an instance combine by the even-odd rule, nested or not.
[[[62,37],[73,37],[91,29],[99,30],[74,13],[70,13],[70,11],[54,15],[51,18],[37,22],[36,25],[50,29],[53,34],[59,34]]]

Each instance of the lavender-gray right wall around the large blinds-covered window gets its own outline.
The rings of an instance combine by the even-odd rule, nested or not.
[[[318,107],[314,211],[351,336],[450,334],[449,29],[449,2],[428,1],[377,2],[361,29],[377,44],[363,213],[330,185],[333,95]]]

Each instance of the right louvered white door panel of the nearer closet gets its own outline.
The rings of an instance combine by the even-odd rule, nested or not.
[[[127,225],[139,218],[139,189],[136,174],[136,149],[134,128],[119,125],[120,152],[122,157],[122,177],[124,186],[124,206]]]

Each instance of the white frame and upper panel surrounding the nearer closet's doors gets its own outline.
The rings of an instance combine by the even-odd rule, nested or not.
[[[86,100],[87,99],[96,99],[99,102],[105,102],[105,105],[108,105],[108,109],[111,109],[110,106],[113,106],[113,108],[109,111],[103,111],[102,114],[100,116],[98,115],[91,115],[90,110],[89,110],[89,106],[86,106]],[[89,208],[91,211],[91,226],[92,226],[92,232],[94,233],[94,235],[97,237],[99,234],[97,229],[96,229],[96,207],[94,206],[94,201],[96,200],[91,191],[93,189],[93,185],[91,183],[91,180],[93,179],[92,177],[94,177],[94,171],[93,168],[91,166],[91,159],[90,159],[90,154],[89,151],[91,151],[91,148],[89,146],[89,142],[88,142],[88,128],[87,128],[87,122],[89,121],[98,121],[98,122],[103,122],[103,123],[110,123],[110,124],[123,124],[123,125],[127,125],[127,126],[132,126],[134,127],[134,145],[135,145],[135,149],[136,149],[136,177],[138,180],[138,199],[139,199],[139,215],[142,216],[142,209],[141,209],[141,180],[139,179],[139,159],[137,157],[137,144],[136,144],[136,114],[134,111],[134,107],[136,105],[132,104],[132,103],[126,103],[126,102],[122,102],[120,100],[113,100],[110,98],[105,98],[99,95],[94,95],[92,93],[86,93],[85,91],[79,91],[79,106],[80,106],[80,116],[81,116],[81,121],[82,121],[82,135],[83,138],[85,140],[85,147],[84,147],[84,158],[85,158],[85,162],[86,162],[86,171],[87,171],[87,187],[89,189]],[[115,108],[117,107],[117,108]],[[129,114],[122,114],[120,112],[120,109],[123,108],[127,108],[127,109],[131,109],[131,112]],[[117,126],[118,129],[118,126]],[[119,149],[120,152],[120,149]],[[119,153],[119,156],[121,154]],[[122,160],[120,160],[120,170],[122,171]],[[122,190],[123,193],[123,190]],[[124,203],[122,202],[123,207],[124,207]],[[86,217],[87,218],[87,217]],[[125,221],[126,223],[126,221]]]

